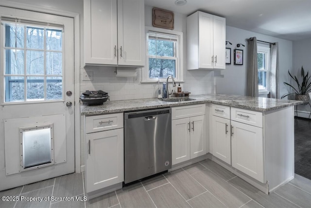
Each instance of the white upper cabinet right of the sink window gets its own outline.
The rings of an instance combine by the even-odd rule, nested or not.
[[[187,69],[225,69],[225,18],[199,11],[187,17]]]

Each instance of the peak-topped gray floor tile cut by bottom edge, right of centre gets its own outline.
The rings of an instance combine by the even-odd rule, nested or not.
[[[208,191],[188,200],[188,203],[192,208],[204,208],[207,205],[208,208],[226,208],[221,201]]]

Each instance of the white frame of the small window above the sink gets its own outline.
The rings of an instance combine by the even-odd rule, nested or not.
[[[178,31],[172,31],[162,28],[155,28],[155,27],[145,27],[145,38],[146,38],[146,63],[145,67],[142,68],[141,73],[141,83],[156,83],[158,81],[160,82],[166,82],[166,78],[150,78],[149,77],[149,57],[155,57],[155,56],[149,56],[148,54],[148,48],[149,48],[149,36],[148,33],[157,33],[157,34],[167,34],[171,36],[177,37],[176,42],[176,51],[174,54],[176,57],[164,57],[165,59],[175,59],[176,60],[176,67],[175,67],[175,82],[184,82],[184,58],[183,58],[183,33]],[[170,81],[172,81],[170,79]]]

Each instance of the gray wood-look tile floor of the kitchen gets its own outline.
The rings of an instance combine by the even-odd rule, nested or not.
[[[86,201],[83,173],[0,191],[0,196],[23,198],[0,201],[0,208],[310,208],[311,180],[295,175],[266,195],[207,159]],[[43,200],[30,203],[26,197]],[[76,200],[55,201],[58,197]]]

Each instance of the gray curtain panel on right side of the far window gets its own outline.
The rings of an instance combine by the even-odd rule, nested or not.
[[[270,97],[279,98],[278,43],[271,44],[270,47]]]

